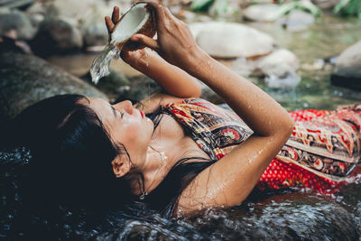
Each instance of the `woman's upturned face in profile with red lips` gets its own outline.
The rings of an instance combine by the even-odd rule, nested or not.
[[[134,165],[132,168],[142,169],[153,134],[153,122],[129,100],[110,105],[101,98],[88,99],[89,107],[106,127],[113,143],[125,146]]]

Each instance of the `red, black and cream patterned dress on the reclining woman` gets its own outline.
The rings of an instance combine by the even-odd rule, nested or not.
[[[213,160],[221,159],[253,133],[233,112],[200,98],[169,104],[163,112],[177,120]],[[360,161],[361,105],[289,114],[295,121],[292,135],[257,187],[338,191]]]

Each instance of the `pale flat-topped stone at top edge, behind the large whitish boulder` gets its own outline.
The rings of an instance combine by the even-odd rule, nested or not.
[[[280,5],[251,5],[243,11],[243,17],[249,21],[272,22],[274,14],[280,9]]]

